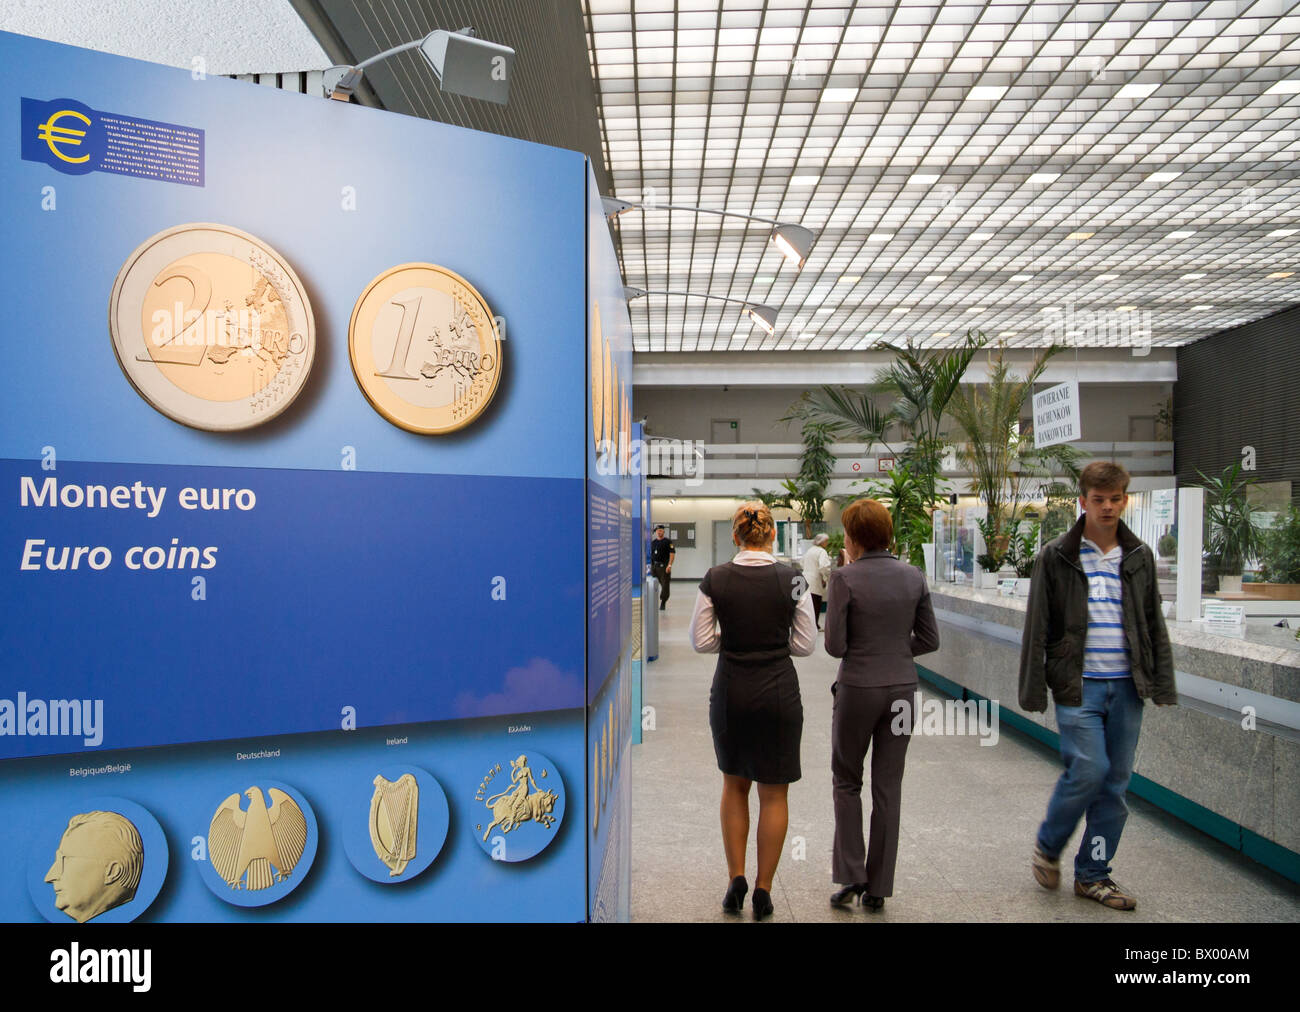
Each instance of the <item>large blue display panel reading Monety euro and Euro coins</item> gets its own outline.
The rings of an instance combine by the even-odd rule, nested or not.
[[[82,810],[118,797],[170,864],[151,903],[96,918],[584,917],[584,705],[620,656],[589,675],[585,159],[18,35],[0,56],[21,250],[0,278],[0,916],[94,909],[44,878],[87,839],[155,869],[152,827]],[[109,126],[148,159],[185,147],[181,168],[126,170]],[[90,172],[65,161],[82,139]],[[150,265],[194,230],[243,243],[246,298],[200,284],[229,250]],[[396,286],[372,312],[395,343],[358,358],[365,294],[406,265],[451,278],[448,323]],[[118,311],[133,284],[144,310]],[[385,401],[408,390],[480,403],[422,434]]]

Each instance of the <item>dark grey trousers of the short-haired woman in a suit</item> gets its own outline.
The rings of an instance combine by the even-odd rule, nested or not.
[[[872,896],[893,895],[898,860],[902,767],[911,741],[916,684],[835,686],[831,718],[831,779],[835,786],[832,878],[841,886],[867,883]],[[906,710],[894,706],[905,700]],[[902,728],[902,734],[896,728]],[[871,844],[862,842],[862,765],[871,751]]]

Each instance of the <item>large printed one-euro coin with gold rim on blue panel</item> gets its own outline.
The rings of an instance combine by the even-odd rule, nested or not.
[[[352,308],[347,346],[370,406],[408,432],[436,436],[477,419],[500,384],[500,333],[484,297],[436,264],[400,264]]]

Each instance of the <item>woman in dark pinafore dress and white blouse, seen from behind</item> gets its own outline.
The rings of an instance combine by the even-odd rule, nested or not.
[[[776,524],[767,506],[741,506],[732,518],[732,540],[741,552],[699,581],[692,643],[699,653],[720,654],[708,726],[723,773],[720,816],[731,875],[723,909],[740,913],[749,892],[749,791],[757,783],[754,916],[762,920],[772,913],[772,878],[785,846],[786,791],[800,779],[803,705],[790,654],[812,653],[816,623],[803,575],[772,557]]]

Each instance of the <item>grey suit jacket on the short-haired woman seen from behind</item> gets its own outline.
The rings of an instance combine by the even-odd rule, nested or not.
[[[831,574],[826,588],[826,652],[846,686],[916,680],[913,657],[939,649],[926,575],[888,552],[863,553]]]

